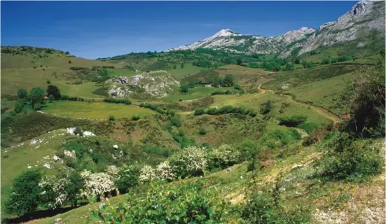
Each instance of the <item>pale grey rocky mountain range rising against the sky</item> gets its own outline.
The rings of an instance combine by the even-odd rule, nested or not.
[[[368,36],[372,31],[385,36],[385,1],[359,1],[335,22],[327,22],[318,30],[302,27],[280,36],[239,34],[230,29],[219,32],[190,45],[170,50],[211,48],[228,52],[280,53],[279,57],[301,55],[322,46],[353,41]]]

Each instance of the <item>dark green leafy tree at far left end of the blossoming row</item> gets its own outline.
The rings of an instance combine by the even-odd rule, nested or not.
[[[36,211],[40,202],[39,182],[41,177],[39,170],[22,172],[20,176],[16,177],[13,181],[13,192],[4,204],[8,214],[22,216]]]

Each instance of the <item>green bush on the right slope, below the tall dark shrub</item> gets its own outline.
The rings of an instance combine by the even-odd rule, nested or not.
[[[374,145],[369,140],[355,141],[349,134],[340,132],[326,146],[323,157],[315,165],[320,176],[364,180],[383,171],[381,144]]]

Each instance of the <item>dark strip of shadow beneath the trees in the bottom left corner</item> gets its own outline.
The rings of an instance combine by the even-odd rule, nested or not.
[[[81,207],[81,206],[82,205],[78,207]],[[64,212],[70,211],[72,209],[76,209],[78,207],[66,207],[66,208],[34,211],[30,214],[25,214],[24,216],[20,216],[18,218],[4,218],[4,220],[2,220],[1,223],[2,224],[25,223],[28,221],[32,221],[34,219],[56,216],[57,214],[62,214]]]

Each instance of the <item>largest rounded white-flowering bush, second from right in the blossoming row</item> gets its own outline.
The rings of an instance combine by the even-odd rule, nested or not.
[[[170,158],[174,174],[181,177],[198,176],[207,169],[207,151],[205,148],[188,146]]]

